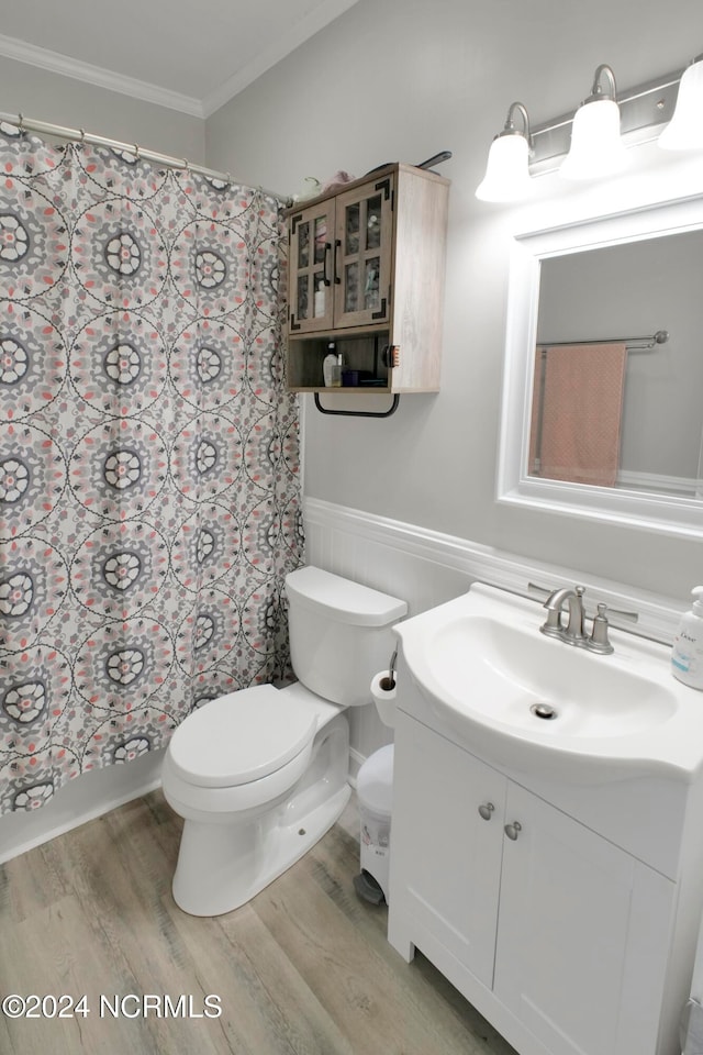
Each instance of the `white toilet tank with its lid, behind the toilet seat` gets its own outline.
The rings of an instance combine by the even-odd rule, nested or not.
[[[391,625],[408,613],[405,601],[314,567],[287,575],[286,593],[299,680],[333,703],[369,703],[371,678],[388,668]]]

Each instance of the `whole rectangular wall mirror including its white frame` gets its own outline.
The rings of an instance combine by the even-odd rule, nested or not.
[[[499,500],[700,534],[702,434],[703,198],[518,235]]]

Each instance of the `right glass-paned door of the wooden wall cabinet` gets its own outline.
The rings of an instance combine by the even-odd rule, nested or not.
[[[337,198],[335,325],[384,322],[390,312],[392,177]]]

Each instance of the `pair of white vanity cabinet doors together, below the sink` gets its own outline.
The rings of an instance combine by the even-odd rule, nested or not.
[[[677,882],[402,710],[394,758],[401,955],[417,946],[520,1055],[678,1053]]]

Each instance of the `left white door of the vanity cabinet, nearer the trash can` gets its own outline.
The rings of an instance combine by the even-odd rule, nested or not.
[[[505,778],[398,712],[389,940],[438,943],[490,988]],[[479,810],[481,809],[481,812]]]

